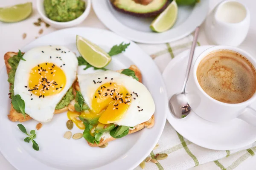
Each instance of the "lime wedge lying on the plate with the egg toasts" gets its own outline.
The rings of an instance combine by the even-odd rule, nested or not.
[[[110,55],[102,48],[78,35],[76,36],[76,48],[81,56],[93,67],[103,68],[111,61]]]

